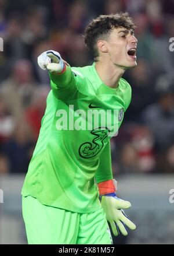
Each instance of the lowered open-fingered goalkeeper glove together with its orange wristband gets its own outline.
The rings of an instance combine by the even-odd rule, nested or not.
[[[102,195],[102,208],[106,214],[106,219],[111,225],[114,236],[118,236],[119,231],[124,235],[128,235],[129,229],[135,230],[136,225],[125,215],[123,209],[128,209],[131,207],[131,203],[124,201],[116,197],[115,180],[103,181],[98,184],[100,195]],[[126,225],[126,226],[125,226]]]

